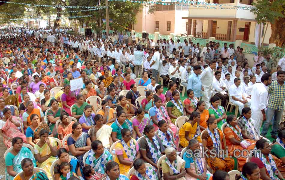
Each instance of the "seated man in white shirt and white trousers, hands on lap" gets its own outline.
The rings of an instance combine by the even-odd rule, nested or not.
[[[239,114],[241,114],[242,109],[246,105],[247,107],[250,106],[250,99],[247,99],[242,95],[242,88],[241,88],[241,80],[239,78],[234,79],[234,84],[229,88],[229,101],[232,104],[238,106]]]

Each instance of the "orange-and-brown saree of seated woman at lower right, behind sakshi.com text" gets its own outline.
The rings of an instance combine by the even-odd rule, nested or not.
[[[240,144],[232,144],[231,141],[229,140],[230,138],[235,138],[236,140],[240,141],[239,137],[237,134],[235,134],[234,131],[232,131],[231,128],[229,128],[228,126],[226,126],[226,128],[224,129],[224,134],[225,134],[225,139],[226,139],[226,146],[227,146],[227,150],[229,152],[229,156],[235,157],[235,156],[240,156],[240,152],[244,149],[243,147],[241,147]],[[248,152],[250,152],[251,149],[254,149],[255,147],[255,143],[256,141],[254,140],[249,140],[249,139],[243,139],[248,141],[249,143],[251,143],[250,146],[247,147]],[[239,149],[240,151],[235,151],[235,154],[233,154],[235,149]],[[246,157],[247,153],[244,154],[244,157]],[[235,157],[236,158],[236,157]],[[246,163],[246,158],[243,158],[242,156],[236,158],[238,160],[238,170],[241,171],[243,165]]]

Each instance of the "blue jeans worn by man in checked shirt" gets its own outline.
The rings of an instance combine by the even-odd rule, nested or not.
[[[273,110],[271,108],[267,108],[267,110],[266,110],[266,121],[263,124],[262,132],[261,132],[262,136],[264,136],[264,137],[266,136],[267,131],[269,129],[269,125],[271,122],[272,122],[272,131],[270,134],[272,136],[277,136],[277,130],[279,128],[282,112],[283,111]]]

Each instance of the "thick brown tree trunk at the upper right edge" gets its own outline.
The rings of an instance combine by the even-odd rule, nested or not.
[[[271,23],[271,37],[269,43],[275,43],[276,46],[281,47],[285,41],[285,18],[275,20],[274,24]]]

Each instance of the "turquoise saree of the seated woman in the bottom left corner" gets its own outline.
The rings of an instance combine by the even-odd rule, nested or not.
[[[10,152],[7,154],[7,157],[5,158],[8,158],[8,156],[10,156]],[[37,166],[36,164],[36,160],[34,158],[34,155],[33,153],[31,152],[31,150],[27,147],[22,147],[21,150],[18,152],[18,154],[13,158],[13,161],[12,161],[12,164],[13,164],[13,170],[16,172],[16,173],[19,173],[22,171],[22,167],[21,167],[21,161],[24,159],[24,158],[29,158],[32,160],[33,164],[34,164],[34,167]],[[7,172],[7,167],[5,168],[5,180],[13,180],[14,177],[13,176],[10,176],[9,173]]]

